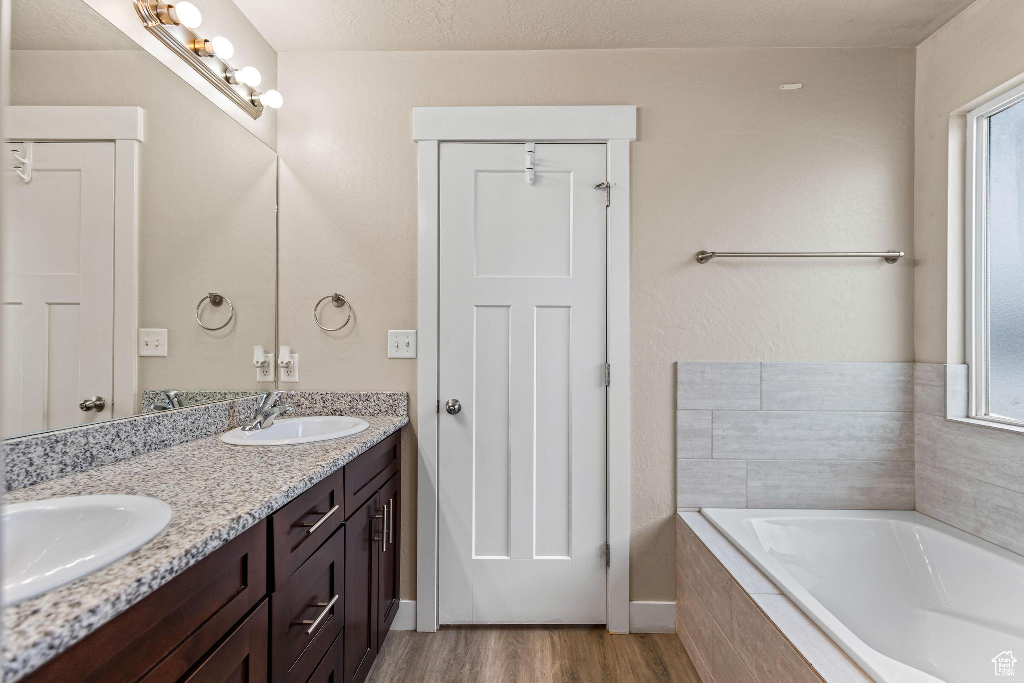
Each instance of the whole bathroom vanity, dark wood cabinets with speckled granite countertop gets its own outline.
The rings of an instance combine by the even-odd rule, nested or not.
[[[299,445],[210,435],[12,492],[117,487],[174,517],[123,560],[5,609],[4,680],[365,680],[398,611],[408,418],[367,420]]]

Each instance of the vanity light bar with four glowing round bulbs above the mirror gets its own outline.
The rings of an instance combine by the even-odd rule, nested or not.
[[[266,106],[278,109],[284,98],[276,90],[260,92],[256,88],[263,76],[255,67],[236,69],[227,62],[234,55],[234,45],[224,36],[204,38],[193,29],[203,22],[203,14],[191,2],[174,4],[158,0],[132,0],[146,31],[187,61],[221,94],[258,119]]]

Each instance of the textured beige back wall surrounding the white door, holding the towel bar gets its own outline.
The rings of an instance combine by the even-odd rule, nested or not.
[[[387,329],[416,327],[414,105],[639,105],[631,592],[674,599],[673,364],[913,357],[909,259],[698,265],[693,254],[909,252],[913,58],[906,48],[283,53],[281,338],[302,354],[301,386],[404,390],[415,411],[415,361],[385,348]],[[779,90],[792,81],[804,88]],[[335,290],[357,322],[332,337],[309,307]]]

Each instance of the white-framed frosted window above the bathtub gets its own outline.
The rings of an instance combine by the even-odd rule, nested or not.
[[[1024,87],[968,115],[971,417],[1024,425]]]

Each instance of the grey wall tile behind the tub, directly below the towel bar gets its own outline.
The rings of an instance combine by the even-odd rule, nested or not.
[[[679,508],[914,506],[910,362],[679,362]]]

